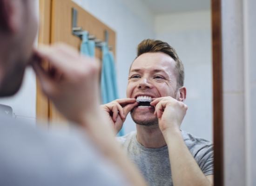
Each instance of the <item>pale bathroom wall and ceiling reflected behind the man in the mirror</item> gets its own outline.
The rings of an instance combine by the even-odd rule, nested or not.
[[[160,39],[175,48],[185,69],[185,103],[189,109],[182,130],[212,141],[212,43],[210,0],[74,0],[116,32],[119,97],[126,97],[128,69],[137,45]],[[111,11],[107,11],[111,9]],[[124,133],[135,130],[130,115]]]

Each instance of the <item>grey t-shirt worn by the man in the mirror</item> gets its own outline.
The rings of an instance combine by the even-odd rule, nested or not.
[[[213,174],[213,145],[182,131],[183,139],[205,175]],[[173,186],[168,147],[145,148],[136,139],[136,132],[118,137],[128,156],[138,166],[150,186]]]

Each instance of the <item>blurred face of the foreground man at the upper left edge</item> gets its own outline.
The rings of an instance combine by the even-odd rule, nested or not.
[[[22,83],[23,74],[32,55],[37,32],[37,16],[34,0],[5,1],[12,12],[7,12],[8,29],[2,34],[0,53],[0,96],[11,96]],[[4,59],[4,60],[3,60]]]

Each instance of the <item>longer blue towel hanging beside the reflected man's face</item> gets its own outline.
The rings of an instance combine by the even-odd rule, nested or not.
[[[102,103],[106,104],[118,98],[115,60],[112,52],[108,50],[108,45],[102,43],[102,68],[101,68],[101,98]],[[123,129],[119,136],[124,135]]]

